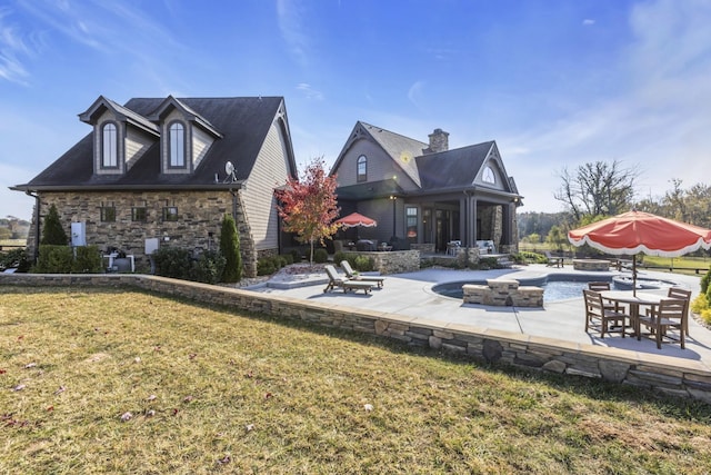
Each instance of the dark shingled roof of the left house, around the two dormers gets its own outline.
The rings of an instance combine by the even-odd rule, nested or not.
[[[134,118],[146,118],[158,110],[164,101],[164,98],[136,98],[129,100],[124,106],[118,106],[106,98],[100,98],[84,115],[90,116],[92,109],[106,105],[107,107],[118,106],[117,110],[122,111],[127,117],[130,115]],[[224,164],[228,160],[236,166],[237,179],[246,180],[252,171],[272,122],[283,110],[282,97],[181,98],[179,101],[188,108],[186,110],[191,110],[203,117],[222,132],[222,138],[218,138],[212,144],[194,172],[161,174],[160,144],[157,140],[126,174],[94,175],[93,132],[91,132],[29,184],[18,185],[13,189],[212,188],[216,187],[216,174],[219,174],[221,178],[224,177]],[[287,120],[286,113],[283,120]],[[286,127],[282,129],[288,130]],[[291,169],[296,172],[296,159],[290,137],[287,137],[287,158]]]

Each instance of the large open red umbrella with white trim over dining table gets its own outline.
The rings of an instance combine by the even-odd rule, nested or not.
[[[584,244],[615,256],[679,257],[711,248],[711,229],[642,211],[628,211],[568,232],[573,246]],[[637,294],[637,259],[632,258],[632,289]]]

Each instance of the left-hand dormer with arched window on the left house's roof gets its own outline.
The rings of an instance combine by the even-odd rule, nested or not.
[[[159,138],[154,123],[103,96],[79,120],[93,127],[94,175],[126,174]]]

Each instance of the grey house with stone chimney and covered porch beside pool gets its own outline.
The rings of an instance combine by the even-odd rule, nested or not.
[[[362,121],[356,123],[333,168],[341,216],[358,211],[378,221],[350,229],[358,238],[445,251],[453,243],[483,253],[518,249],[513,178],[495,141],[449,149],[435,129],[429,144]],[[347,236],[350,239],[356,236]],[[493,247],[491,246],[493,245]]]

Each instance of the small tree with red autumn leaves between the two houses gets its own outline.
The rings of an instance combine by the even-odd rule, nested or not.
[[[311,246],[310,261],[313,264],[313,246],[339,230],[334,222],[340,208],[336,201],[336,177],[329,177],[323,169],[322,159],[313,159],[301,176],[301,179],[289,177],[283,189],[276,191],[277,210],[283,219],[283,229],[294,232],[300,243]]]

